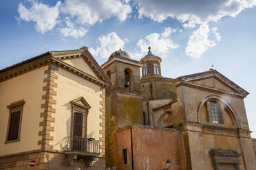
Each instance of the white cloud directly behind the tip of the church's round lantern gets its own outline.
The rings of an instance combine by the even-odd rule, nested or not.
[[[162,33],[153,33],[145,36],[145,38],[140,38],[137,42],[137,47],[139,52],[134,53],[132,56],[134,58],[142,58],[147,54],[149,44],[151,46],[151,51],[155,55],[165,56],[171,51],[171,49],[177,49],[179,45],[175,44],[170,36],[176,29],[171,27],[164,28]]]

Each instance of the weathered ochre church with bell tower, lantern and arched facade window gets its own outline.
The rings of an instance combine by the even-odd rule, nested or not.
[[[140,62],[119,50],[102,65],[107,169],[256,169],[248,92],[213,69],[162,77],[161,62],[149,47]]]

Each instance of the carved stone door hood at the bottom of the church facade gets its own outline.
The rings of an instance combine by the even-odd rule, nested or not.
[[[239,156],[242,156],[242,154],[238,154],[237,151],[231,149],[212,149],[209,153],[211,154],[215,170],[219,170],[222,163],[233,164],[235,169],[239,170]]]

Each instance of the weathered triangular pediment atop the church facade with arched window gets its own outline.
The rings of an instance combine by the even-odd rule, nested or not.
[[[216,70],[206,71],[202,73],[195,73],[192,75],[184,75],[177,78],[177,83],[186,83],[191,86],[198,86],[200,88],[211,88],[212,90],[220,90],[222,93],[233,93],[246,97],[249,93],[229,80]]]

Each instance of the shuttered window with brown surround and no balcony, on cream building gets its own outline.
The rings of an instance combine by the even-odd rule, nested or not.
[[[21,119],[24,104],[25,101],[20,100],[7,106],[9,109],[9,120],[6,133],[6,143],[20,141]]]

